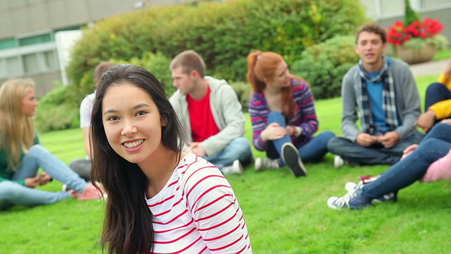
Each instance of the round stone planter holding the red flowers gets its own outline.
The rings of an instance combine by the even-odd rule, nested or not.
[[[412,48],[409,46],[400,45],[396,47],[397,56],[409,64],[424,63],[431,61],[435,56],[437,49],[433,44],[427,44],[421,49]]]

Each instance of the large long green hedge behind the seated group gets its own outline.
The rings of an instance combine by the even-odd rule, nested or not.
[[[142,58],[145,52],[171,59],[194,49],[206,61],[207,74],[244,80],[252,49],[278,52],[292,63],[305,47],[349,34],[364,20],[358,0],[228,0],[147,8],[85,28],[68,75],[88,91],[83,77],[100,61]]]

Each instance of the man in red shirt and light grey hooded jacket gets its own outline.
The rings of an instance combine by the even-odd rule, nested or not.
[[[225,175],[242,173],[242,164],[253,157],[249,141],[242,136],[245,116],[233,87],[226,80],[204,76],[205,63],[192,50],[175,56],[169,68],[178,88],[169,101],[187,135],[186,150],[215,164]]]

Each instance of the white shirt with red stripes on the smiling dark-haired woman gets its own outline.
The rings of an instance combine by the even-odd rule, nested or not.
[[[252,253],[230,183],[202,157],[190,153],[181,159],[147,205],[153,214],[151,253]]]

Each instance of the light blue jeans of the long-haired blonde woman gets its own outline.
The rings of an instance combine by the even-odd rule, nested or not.
[[[66,183],[69,188],[82,193],[87,182],[78,174],[56,158],[42,145],[33,145],[20,162],[20,166],[13,176],[13,181],[25,180],[34,177],[37,169],[41,167],[53,179]],[[70,198],[69,193],[41,191],[35,188],[22,186],[13,181],[0,182],[0,210],[10,205],[35,206],[58,202],[64,198]]]

